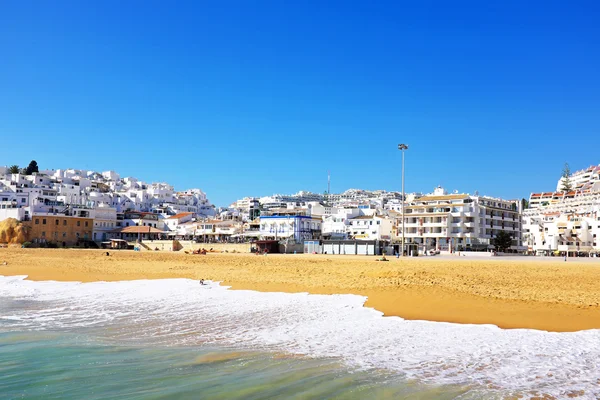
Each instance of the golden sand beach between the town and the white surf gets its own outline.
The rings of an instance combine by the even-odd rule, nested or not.
[[[34,280],[191,278],[234,289],[352,293],[405,319],[575,331],[600,328],[600,259],[442,259],[332,255],[0,249],[0,275]],[[6,262],[7,265],[2,265]]]

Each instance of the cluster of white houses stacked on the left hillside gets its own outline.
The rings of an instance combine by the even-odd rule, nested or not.
[[[0,220],[28,220],[34,215],[94,218],[93,239],[97,241],[127,226],[163,230],[165,217],[182,212],[214,215],[214,206],[199,189],[175,192],[166,183],[121,179],[114,171],[58,169],[32,175],[7,171],[0,170]],[[132,216],[128,211],[139,214]]]

